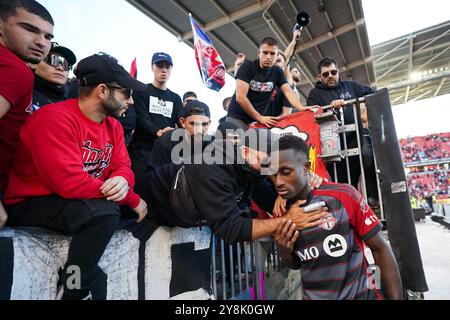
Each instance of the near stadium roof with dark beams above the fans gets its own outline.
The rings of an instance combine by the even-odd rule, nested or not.
[[[131,5],[193,46],[188,14],[210,36],[227,70],[236,54],[256,59],[259,41],[273,36],[284,49],[292,39],[298,12],[306,11],[312,23],[304,28],[292,62],[303,79],[299,87],[306,97],[316,82],[317,64],[333,57],[344,79],[375,85],[364,14],[360,0],[127,0]]]

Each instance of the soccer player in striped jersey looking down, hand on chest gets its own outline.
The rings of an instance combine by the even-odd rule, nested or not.
[[[287,208],[298,201],[302,206],[323,201],[328,207],[319,225],[298,231],[295,222],[285,219],[275,232],[282,262],[300,269],[303,298],[381,299],[377,281],[381,277],[387,298],[402,299],[397,262],[364,198],[346,184],[329,183],[311,190],[305,141],[288,135],[280,138],[278,147],[271,153],[272,181],[278,194],[288,201]],[[367,268],[364,243],[378,267],[374,279]]]

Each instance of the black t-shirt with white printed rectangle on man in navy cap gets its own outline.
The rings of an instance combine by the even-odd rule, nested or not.
[[[132,146],[151,151],[158,130],[175,128],[183,103],[176,93],[169,89],[160,90],[152,84],[144,91],[135,92],[133,100],[137,119]]]

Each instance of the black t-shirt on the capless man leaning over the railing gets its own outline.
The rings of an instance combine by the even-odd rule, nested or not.
[[[262,115],[266,114],[275,87],[281,88],[281,86],[287,83],[281,68],[273,66],[268,69],[263,69],[259,65],[259,60],[244,62],[238,70],[236,79],[249,84],[250,88],[247,97],[255,110]],[[231,100],[228,116],[240,119],[246,124],[255,121],[237,103],[236,94]]]

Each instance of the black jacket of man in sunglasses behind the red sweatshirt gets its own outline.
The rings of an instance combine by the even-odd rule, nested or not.
[[[38,75],[34,78],[33,111],[39,108],[67,99],[67,86],[57,86]]]

